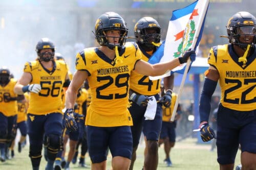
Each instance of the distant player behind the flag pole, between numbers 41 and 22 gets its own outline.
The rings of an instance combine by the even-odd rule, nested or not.
[[[161,85],[161,96],[164,95],[164,87]],[[161,128],[161,133],[159,137],[159,147],[162,143],[164,143],[164,153],[165,153],[165,159],[164,162],[167,164],[167,166],[172,166],[173,163],[170,160],[170,150],[174,147],[175,145],[175,140],[176,140],[176,125],[177,125],[177,120],[181,116],[181,107],[180,104],[178,104],[177,112],[175,115],[174,122],[170,122],[170,118],[172,117],[174,106],[177,100],[177,94],[172,93],[172,102],[169,107],[164,107],[162,106],[162,128]]]

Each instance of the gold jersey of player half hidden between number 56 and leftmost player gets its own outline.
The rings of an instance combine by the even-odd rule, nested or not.
[[[27,109],[29,105],[29,94],[28,92],[24,93],[25,100],[18,101],[18,114],[17,114],[17,123],[24,122],[28,119]]]

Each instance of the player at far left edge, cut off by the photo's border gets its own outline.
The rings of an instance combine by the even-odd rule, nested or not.
[[[9,155],[9,147],[15,138],[17,120],[17,100],[22,100],[24,95],[17,95],[13,88],[17,80],[11,79],[7,67],[0,68],[0,160],[4,162]]]

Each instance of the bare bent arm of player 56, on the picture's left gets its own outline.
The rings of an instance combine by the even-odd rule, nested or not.
[[[16,94],[24,94],[26,91],[23,91],[23,87],[27,86],[32,80],[32,75],[29,72],[24,72],[22,77],[17,81],[14,86],[14,92]]]

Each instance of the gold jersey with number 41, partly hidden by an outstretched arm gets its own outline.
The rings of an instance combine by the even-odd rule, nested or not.
[[[147,62],[151,55],[143,49],[140,51],[141,59]],[[160,92],[160,79],[152,81],[148,76],[140,75],[135,71],[132,71],[130,79],[130,88],[139,94],[155,95]]]

